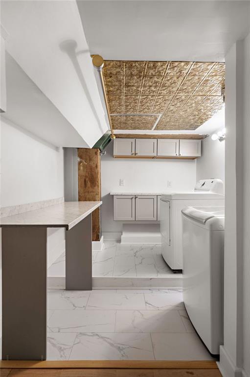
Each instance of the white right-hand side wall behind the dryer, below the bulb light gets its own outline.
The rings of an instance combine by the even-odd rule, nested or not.
[[[220,129],[215,133],[218,131]],[[210,135],[206,137],[202,141],[202,157],[197,159],[196,167],[197,181],[219,178],[225,183],[225,141],[212,140]]]

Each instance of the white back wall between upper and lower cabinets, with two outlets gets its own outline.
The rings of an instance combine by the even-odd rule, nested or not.
[[[119,186],[120,178],[125,185]],[[167,187],[172,181],[172,188]],[[122,222],[113,221],[111,191],[169,191],[193,189],[196,183],[196,160],[114,159],[113,142],[101,157],[102,232],[121,232]]]

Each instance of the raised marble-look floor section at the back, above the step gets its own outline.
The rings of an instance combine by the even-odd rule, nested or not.
[[[161,255],[159,244],[128,245],[104,242],[92,252],[93,277],[166,277],[174,275]],[[65,253],[48,269],[48,276],[65,276]]]

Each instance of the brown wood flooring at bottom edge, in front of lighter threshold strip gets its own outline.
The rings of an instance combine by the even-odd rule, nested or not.
[[[222,377],[218,369],[1,369],[0,377]]]

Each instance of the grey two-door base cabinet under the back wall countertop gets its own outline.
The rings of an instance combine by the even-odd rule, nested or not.
[[[114,195],[114,220],[157,221],[158,206],[157,195]]]

